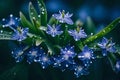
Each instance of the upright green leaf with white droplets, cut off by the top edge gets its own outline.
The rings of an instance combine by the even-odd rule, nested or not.
[[[38,0],[38,6],[40,9],[40,15],[41,15],[41,25],[47,26],[47,10],[43,0]]]

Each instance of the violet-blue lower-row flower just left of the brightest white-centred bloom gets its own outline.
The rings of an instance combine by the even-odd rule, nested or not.
[[[60,54],[63,55],[64,59],[67,59],[69,57],[74,58],[76,56],[76,53],[74,52],[74,46],[69,45],[65,48],[62,48]]]

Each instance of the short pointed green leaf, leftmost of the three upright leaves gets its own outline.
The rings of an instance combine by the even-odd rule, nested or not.
[[[26,19],[22,12],[20,12],[20,19],[23,27],[29,27],[31,32],[36,32],[36,28]]]

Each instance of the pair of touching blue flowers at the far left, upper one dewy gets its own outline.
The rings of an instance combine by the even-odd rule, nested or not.
[[[10,29],[13,30],[13,32],[14,32],[12,35],[13,40],[22,41],[27,38],[27,33],[28,33],[29,29],[19,26],[19,24],[20,24],[19,18],[14,17],[11,14],[8,19],[3,19],[2,23],[3,23],[3,28],[9,27]]]

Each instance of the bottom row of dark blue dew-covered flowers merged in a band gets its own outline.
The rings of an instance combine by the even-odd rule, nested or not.
[[[24,50],[24,48],[20,48],[12,51],[12,55],[16,59],[16,62],[20,62],[24,59],[24,57],[27,57],[27,62],[29,64],[37,62],[41,64],[43,69],[47,68],[49,65],[52,65],[53,67],[59,68],[62,71],[66,69],[73,70],[77,77],[88,74],[87,65],[90,64],[88,62],[93,59],[92,50],[87,46],[83,48],[82,53],[77,55],[77,53],[74,51],[74,46],[68,45],[61,49],[59,55],[53,57],[50,57],[47,53],[45,53],[40,46],[29,48],[27,51]],[[82,59],[80,59],[80,55]],[[74,60],[76,56],[78,57],[79,61],[83,61],[83,63],[78,64]],[[86,60],[87,65],[84,63],[84,60]]]

